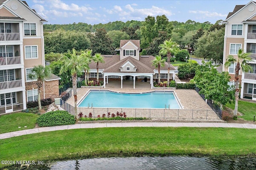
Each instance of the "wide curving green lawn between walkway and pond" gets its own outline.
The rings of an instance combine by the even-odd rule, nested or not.
[[[70,129],[1,139],[0,157],[45,162],[103,156],[256,156],[255,139],[256,129],[242,128]]]

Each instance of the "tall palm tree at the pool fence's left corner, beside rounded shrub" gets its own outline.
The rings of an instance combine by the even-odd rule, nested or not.
[[[64,55],[61,59],[64,61],[64,65],[60,68],[60,74],[70,70],[72,76],[72,85],[74,92],[74,110],[75,110],[75,119],[77,117],[77,86],[76,80],[77,76],[81,75],[83,70],[88,69],[88,63],[86,62],[86,57],[84,57],[84,51],[81,51],[81,55],[77,55],[77,51],[72,49],[72,54],[70,59]]]

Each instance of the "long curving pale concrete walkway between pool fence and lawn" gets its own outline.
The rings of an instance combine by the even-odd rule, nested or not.
[[[33,133],[58,131],[67,129],[87,129],[87,128],[100,128],[100,127],[234,127],[234,128],[247,128],[256,129],[254,124],[241,124],[241,123],[165,123],[165,122],[135,122],[135,123],[86,123],[75,125],[62,125],[53,127],[40,127],[34,129],[27,129],[22,131],[8,132],[0,134],[0,139],[10,137],[28,135]]]

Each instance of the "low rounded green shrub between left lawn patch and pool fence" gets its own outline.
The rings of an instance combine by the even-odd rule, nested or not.
[[[50,111],[40,115],[37,119],[38,126],[58,126],[58,125],[71,125],[75,124],[76,120],[73,115],[67,111]]]

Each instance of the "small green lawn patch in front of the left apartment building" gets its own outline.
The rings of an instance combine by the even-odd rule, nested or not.
[[[1,115],[0,133],[33,129],[36,125],[36,119],[38,116],[39,115],[35,113],[12,113],[8,115]]]

